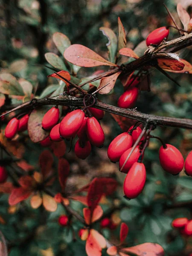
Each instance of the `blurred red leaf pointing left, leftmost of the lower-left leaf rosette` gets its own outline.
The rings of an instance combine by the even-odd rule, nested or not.
[[[15,205],[19,202],[25,200],[31,195],[31,190],[20,188],[15,188],[12,190],[11,194],[9,195],[9,204]]]

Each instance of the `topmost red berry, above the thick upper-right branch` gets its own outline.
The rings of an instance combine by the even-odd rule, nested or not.
[[[168,36],[169,29],[167,29],[165,26],[160,27],[158,29],[155,29],[148,35],[146,39],[146,44],[147,46],[149,46],[150,44],[159,45],[163,42],[164,38],[168,38]]]

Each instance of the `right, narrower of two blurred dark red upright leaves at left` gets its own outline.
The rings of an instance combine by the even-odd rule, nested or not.
[[[69,172],[70,172],[69,162],[64,158],[59,159],[58,178],[59,178],[59,183],[61,185],[62,191],[64,191],[64,189],[65,189],[65,183],[66,183],[67,177],[69,175]]]

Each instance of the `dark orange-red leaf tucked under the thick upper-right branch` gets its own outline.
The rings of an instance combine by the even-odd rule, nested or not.
[[[170,58],[158,58],[158,66],[166,70],[180,71],[183,70],[185,64]]]

